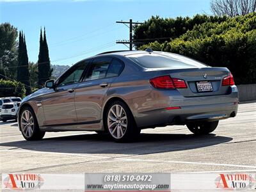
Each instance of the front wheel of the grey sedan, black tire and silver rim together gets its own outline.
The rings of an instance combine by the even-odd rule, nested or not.
[[[40,131],[33,109],[25,107],[20,111],[19,126],[22,136],[28,141],[42,140],[45,132]]]

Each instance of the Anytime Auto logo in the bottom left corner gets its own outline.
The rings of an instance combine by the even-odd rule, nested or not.
[[[44,179],[39,174],[8,174],[4,180],[4,187],[8,189],[40,189]]]

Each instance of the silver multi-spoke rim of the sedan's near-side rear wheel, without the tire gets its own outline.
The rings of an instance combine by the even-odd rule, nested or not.
[[[108,112],[108,129],[113,138],[120,139],[127,131],[127,115],[122,106],[115,104]]]

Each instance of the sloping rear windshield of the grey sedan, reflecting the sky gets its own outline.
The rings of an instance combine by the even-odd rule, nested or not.
[[[127,58],[131,59],[141,67],[145,68],[195,68],[195,67],[207,67],[203,63],[192,60],[190,58],[180,56],[179,54],[173,54],[168,52],[152,52],[143,54],[131,54],[127,55]]]

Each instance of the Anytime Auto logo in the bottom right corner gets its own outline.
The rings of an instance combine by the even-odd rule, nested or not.
[[[256,174],[234,173],[234,174],[220,174],[215,179],[216,188],[244,190],[255,188]]]

